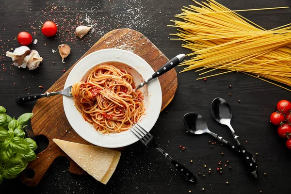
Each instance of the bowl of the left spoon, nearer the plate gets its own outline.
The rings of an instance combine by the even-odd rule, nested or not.
[[[183,117],[185,128],[195,135],[210,133],[204,118],[197,113],[187,113]]]

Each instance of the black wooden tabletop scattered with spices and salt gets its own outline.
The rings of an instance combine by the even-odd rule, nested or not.
[[[290,0],[218,0],[233,10],[266,7],[291,6]],[[54,3],[54,4],[53,4]],[[172,58],[178,53],[190,53],[181,48],[181,41],[169,40],[169,33],[176,29],[167,27],[170,19],[180,13],[182,6],[194,4],[191,0],[1,0],[0,3],[0,105],[11,116],[31,112],[33,103],[19,106],[15,103],[18,94],[43,93],[106,32],[117,28],[131,28],[144,33],[161,51]],[[265,29],[272,29],[291,22],[291,8],[242,12]],[[55,37],[47,38],[39,32],[40,21],[54,20],[59,24]],[[81,40],[74,35],[74,29],[81,23],[94,24],[95,32],[90,32]],[[20,31],[36,32],[38,40],[31,48],[44,58],[39,68],[33,71],[18,69],[5,60],[5,52],[18,47],[14,37]],[[61,62],[58,45],[67,43],[71,54]],[[54,62],[54,64],[53,64]],[[183,67],[177,67],[177,71]],[[140,142],[128,146],[123,152],[107,185],[90,176],[79,176],[67,171],[69,163],[58,158],[51,165],[36,187],[28,187],[17,178],[2,182],[0,193],[41,194],[290,194],[291,151],[285,146],[276,128],[269,122],[281,99],[291,100],[291,93],[279,87],[249,77],[242,73],[229,73],[196,81],[198,73],[189,71],[178,74],[178,90],[173,101],[160,114],[151,130],[160,146],[172,157],[191,169],[198,183],[191,184],[181,178],[161,154],[146,148]],[[229,85],[232,88],[229,88]],[[39,86],[43,86],[40,89]],[[27,88],[27,90],[25,90]],[[232,93],[232,96],[229,96]],[[210,148],[208,135],[192,136],[186,133],[182,118],[185,113],[200,113],[213,132],[226,139],[232,139],[229,130],[217,124],[210,113],[210,104],[215,97],[223,97],[233,111],[232,126],[251,153],[259,153],[259,178],[250,176],[240,159],[225,146],[219,144]],[[241,100],[241,103],[238,103]],[[186,146],[182,151],[179,146]],[[41,145],[40,145],[41,146]],[[221,155],[224,152],[224,155]],[[193,163],[190,162],[193,160]],[[224,166],[226,160],[227,167]],[[223,174],[215,169],[222,162]],[[207,165],[204,168],[204,165]],[[232,170],[228,169],[232,167]],[[208,169],[211,168],[211,174]],[[206,177],[198,176],[198,172]],[[266,173],[266,176],[263,175]],[[226,185],[226,181],[229,182]],[[205,191],[202,191],[205,188]]]

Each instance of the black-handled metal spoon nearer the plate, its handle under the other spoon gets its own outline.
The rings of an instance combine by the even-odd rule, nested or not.
[[[195,135],[200,135],[203,133],[208,133],[215,139],[217,139],[219,142],[225,144],[227,147],[229,147],[232,151],[235,153],[239,153],[240,149],[238,146],[235,146],[229,142],[227,142],[225,139],[223,139],[221,136],[218,136],[216,133],[211,132],[208,127],[207,123],[204,120],[204,118],[197,113],[187,113],[183,117],[184,125],[190,133],[193,133]]]

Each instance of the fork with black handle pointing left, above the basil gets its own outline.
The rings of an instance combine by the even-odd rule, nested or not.
[[[64,95],[64,96],[67,96],[67,97],[73,97],[72,93],[72,86],[69,86],[69,87],[66,87],[64,90],[61,90],[61,91],[58,91],[58,92],[46,92],[45,94],[31,94],[31,95],[27,95],[27,96],[19,96],[19,97],[16,97],[16,102],[19,103],[19,104],[22,104],[22,103],[26,103],[26,102],[31,102],[33,100],[37,100],[39,98],[42,98],[42,97],[50,97],[50,96],[55,96],[55,95],[58,95],[58,94],[61,94],[61,95]]]

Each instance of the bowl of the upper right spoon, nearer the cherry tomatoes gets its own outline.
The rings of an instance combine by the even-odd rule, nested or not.
[[[212,101],[211,113],[213,118],[223,125],[230,125],[231,109],[225,99],[217,97]]]

